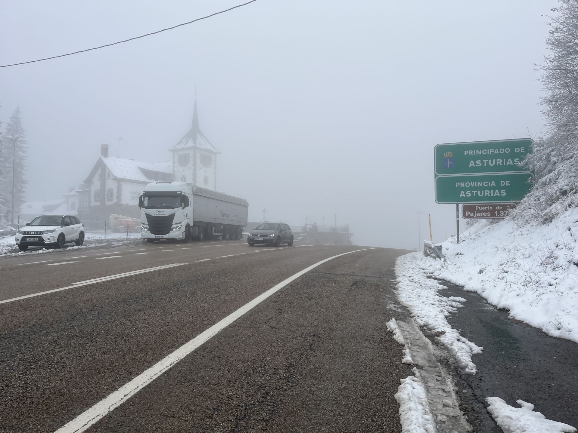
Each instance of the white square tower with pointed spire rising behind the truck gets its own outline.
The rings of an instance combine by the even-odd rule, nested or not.
[[[192,113],[191,129],[171,149],[176,181],[217,191],[217,149],[199,128],[197,99]]]

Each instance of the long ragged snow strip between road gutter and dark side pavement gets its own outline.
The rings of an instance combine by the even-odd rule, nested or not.
[[[483,348],[462,337],[447,322],[447,317],[457,311],[465,299],[441,296],[438,292],[444,289],[444,286],[427,278],[420,269],[424,263],[429,263],[424,262],[424,259],[436,263],[419,252],[406,254],[396,260],[398,299],[409,309],[419,326],[426,327],[429,334],[435,335],[436,340],[453,357],[458,368],[465,373],[475,374],[476,365],[472,362],[472,355],[481,353]]]

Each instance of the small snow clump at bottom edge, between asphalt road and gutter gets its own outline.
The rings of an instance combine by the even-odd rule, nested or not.
[[[402,433],[436,433],[433,416],[429,410],[425,388],[420,373],[413,368],[415,376],[401,379],[394,395],[399,403],[399,421]]]

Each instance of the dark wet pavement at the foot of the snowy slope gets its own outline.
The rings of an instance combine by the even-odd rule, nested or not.
[[[578,344],[508,318],[477,293],[440,282],[447,286],[440,294],[467,300],[449,319],[451,326],[484,348],[473,357],[477,374],[460,375],[457,384],[474,431],[502,433],[487,412],[486,397],[516,408],[521,399],[548,419],[578,427]]]

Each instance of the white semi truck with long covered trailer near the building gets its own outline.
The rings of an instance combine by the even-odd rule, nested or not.
[[[247,200],[188,182],[151,182],[139,198],[142,230],[155,239],[239,240],[247,225]]]

